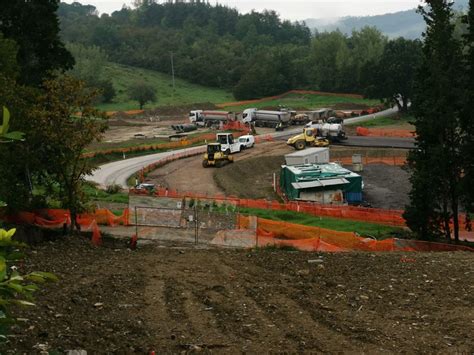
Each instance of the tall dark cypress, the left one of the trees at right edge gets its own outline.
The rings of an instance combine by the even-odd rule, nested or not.
[[[427,30],[415,85],[417,137],[416,149],[408,156],[412,190],[404,217],[422,238],[444,234],[450,240],[452,221],[457,241],[463,161],[461,47],[453,37],[452,4],[446,0],[426,2],[426,9],[419,8]]]

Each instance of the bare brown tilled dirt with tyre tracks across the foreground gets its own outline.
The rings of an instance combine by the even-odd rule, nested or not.
[[[1,352],[474,351],[470,253],[115,248],[32,250],[27,268],[61,280]]]

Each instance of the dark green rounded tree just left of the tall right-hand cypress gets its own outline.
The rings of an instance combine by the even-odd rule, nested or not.
[[[421,55],[419,40],[397,38],[389,41],[380,62],[372,64],[365,74],[366,84],[368,82],[371,87],[366,96],[395,103],[400,111],[407,112]]]

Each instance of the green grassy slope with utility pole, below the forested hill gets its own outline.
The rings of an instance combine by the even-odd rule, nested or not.
[[[127,95],[127,87],[136,81],[144,81],[156,88],[158,100],[155,103],[148,103],[145,108],[200,102],[219,103],[234,101],[234,97],[228,91],[191,84],[181,79],[176,79],[176,89],[173,91],[171,75],[115,63],[108,63],[105,66],[104,78],[112,80],[117,92],[117,96],[112,103],[98,105],[98,108],[104,111],[138,109],[138,103],[131,101]]]

